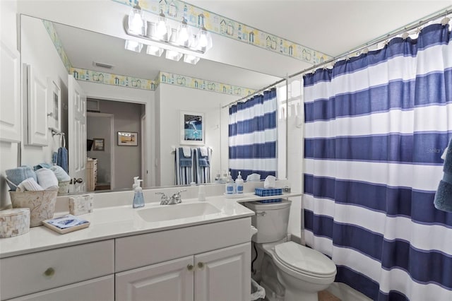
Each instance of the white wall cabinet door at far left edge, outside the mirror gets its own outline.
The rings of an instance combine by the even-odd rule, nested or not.
[[[20,54],[0,41],[0,141],[20,142]]]

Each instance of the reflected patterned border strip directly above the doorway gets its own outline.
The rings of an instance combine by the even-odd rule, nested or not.
[[[133,76],[122,76],[113,73],[98,72],[87,69],[71,68],[70,73],[78,81],[89,81],[91,83],[103,83],[105,85],[119,85],[120,87],[136,88],[143,90],[155,90],[157,83],[145,78]]]

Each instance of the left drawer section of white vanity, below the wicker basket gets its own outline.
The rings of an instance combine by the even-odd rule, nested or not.
[[[7,257],[0,267],[1,300],[114,300],[114,240]]]

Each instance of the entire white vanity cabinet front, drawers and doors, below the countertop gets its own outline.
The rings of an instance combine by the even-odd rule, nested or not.
[[[0,299],[249,300],[250,232],[246,216],[6,256]]]

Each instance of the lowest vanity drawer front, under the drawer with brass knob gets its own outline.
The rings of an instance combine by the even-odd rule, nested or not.
[[[114,301],[114,276],[83,281],[9,301]]]

